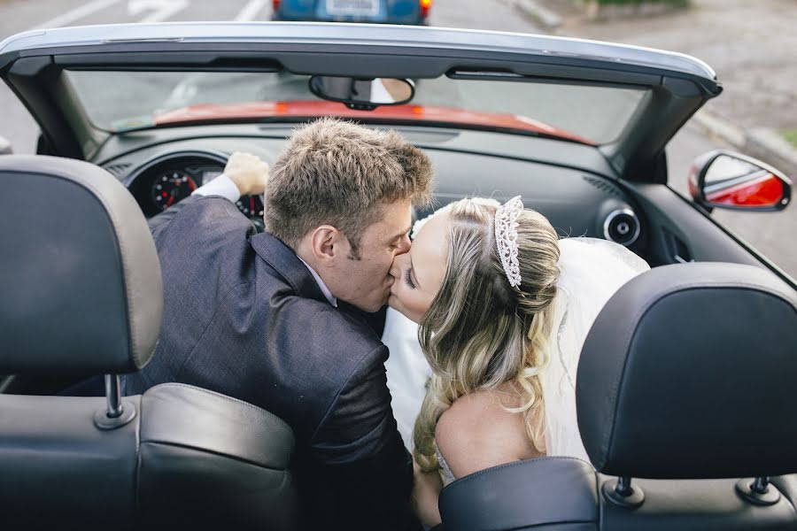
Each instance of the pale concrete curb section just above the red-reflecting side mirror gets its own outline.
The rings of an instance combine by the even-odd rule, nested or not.
[[[706,135],[727,142],[747,155],[761,158],[786,175],[797,177],[797,148],[778,132],[765,127],[745,131],[705,110],[696,112],[693,122]]]

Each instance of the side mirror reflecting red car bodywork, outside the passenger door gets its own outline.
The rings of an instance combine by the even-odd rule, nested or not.
[[[792,181],[770,165],[731,151],[710,151],[694,159],[689,194],[709,209],[781,211],[792,200]]]

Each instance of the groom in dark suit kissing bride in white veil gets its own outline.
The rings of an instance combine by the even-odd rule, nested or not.
[[[336,119],[298,129],[270,174],[234,154],[151,219],[164,325],[126,393],[181,381],[284,419],[306,528],[418,529],[411,493],[432,527],[444,480],[582,457],[580,343],[646,264],[608,242],[560,241],[519,197],[448,205],[410,248],[431,180],[429,158],[398,134]],[[235,201],[264,191],[266,232],[253,234]],[[386,346],[369,314],[388,300]],[[402,358],[429,365],[402,380]],[[429,367],[427,386],[399,389]],[[413,422],[414,458],[399,434]]]

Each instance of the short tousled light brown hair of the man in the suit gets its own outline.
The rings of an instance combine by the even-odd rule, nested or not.
[[[383,205],[429,203],[432,166],[394,131],[317,119],[298,128],[268,178],[266,229],[296,250],[313,228],[336,227],[357,258],[360,238],[383,218]]]

